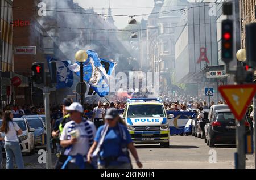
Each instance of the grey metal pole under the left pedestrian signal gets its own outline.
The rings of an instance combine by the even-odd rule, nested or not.
[[[50,89],[49,87],[43,88],[44,94],[44,110],[46,113],[46,168],[51,169],[52,167],[52,152],[51,152],[51,117],[50,117]]]

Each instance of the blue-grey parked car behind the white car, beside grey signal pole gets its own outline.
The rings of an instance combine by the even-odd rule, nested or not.
[[[44,125],[43,119],[40,117],[26,118],[28,125],[35,129],[35,148],[42,149],[46,148],[46,145],[42,145],[42,135],[46,134],[46,126]]]

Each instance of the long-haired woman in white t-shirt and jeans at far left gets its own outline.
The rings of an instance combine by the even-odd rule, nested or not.
[[[1,132],[5,133],[5,152],[6,152],[6,168],[13,169],[13,159],[15,157],[15,162],[18,169],[24,169],[22,151],[19,145],[18,135],[22,135],[22,130],[13,122],[13,113],[7,110],[3,115],[3,122],[1,127]]]

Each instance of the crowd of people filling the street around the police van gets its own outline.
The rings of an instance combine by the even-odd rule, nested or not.
[[[52,148],[56,147],[57,169],[73,168],[132,168],[129,152],[135,158],[139,168],[142,167],[137,151],[132,143],[125,122],[119,117],[120,110],[125,109],[126,100],[115,102],[101,102],[84,106],[65,98],[61,105],[51,108]],[[189,100],[163,101],[167,111],[197,110],[200,126],[204,126],[204,109],[209,109],[214,102]],[[225,104],[219,101],[218,104]],[[88,113],[92,117],[88,117]],[[253,119],[252,106],[247,116]],[[8,105],[4,113],[0,111],[2,126],[0,128],[0,150],[5,141],[6,168],[13,168],[15,158],[18,168],[24,168],[22,152],[19,147],[18,135],[22,134],[20,127],[12,121],[14,115],[44,114],[41,106]],[[201,128],[204,130],[204,128]],[[5,134],[5,135],[3,135]],[[204,133],[203,133],[204,134]],[[2,152],[0,151],[0,167],[2,166]]]

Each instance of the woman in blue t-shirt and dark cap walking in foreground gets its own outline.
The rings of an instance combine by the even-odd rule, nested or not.
[[[98,128],[94,143],[87,155],[88,162],[92,161],[92,157],[98,156],[100,169],[131,169],[130,151],[138,167],[142,168],[129,131],[122,123],[118,110],[108,109],[105,122],[105,125]]]

